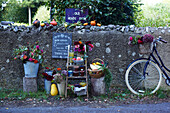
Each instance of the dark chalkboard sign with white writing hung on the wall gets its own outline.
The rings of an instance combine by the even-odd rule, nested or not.
[[[71,44],[72,33],[53,33],[52,58],[67,58]]]

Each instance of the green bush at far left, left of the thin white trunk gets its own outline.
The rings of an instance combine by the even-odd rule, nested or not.
[[[3,11],[2,18],[4,21],[14,22],[27,22],[27,9],[22,8],[16,0],[10,0],[5,10]]]

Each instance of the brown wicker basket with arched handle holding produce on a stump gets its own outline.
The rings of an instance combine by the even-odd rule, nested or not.
[[[94,59],[94,60],[92,61],[92,63],[94,63],[94,62],[96,62],[96,61],[104,64],[104,61],[101,60],[101,59],[99,59],[99,58]],[[99,69],[99,70],[91,70],[91,69],[88,69],[88,71],[89,71],[89,75],[90,75],[91,77],[93,77],[93,78],[100,78],[100,77],[103,77],[103,76],[104,76],[104,72],[103,72],[102,69]]]

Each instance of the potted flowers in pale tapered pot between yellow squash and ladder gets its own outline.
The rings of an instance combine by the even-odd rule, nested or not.
[[[66,76],[67,71],[61,70],[61,68],[57,68],[56,74],[53,75],[53,80],[57,83],[60,96],[63,96],[65,92]]]

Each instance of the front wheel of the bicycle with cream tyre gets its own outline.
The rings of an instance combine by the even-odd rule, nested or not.
[[[155,93],[162,81],[161,70],[153,61],[149,61],[145,75],[144,67],[148,60],[140,59],[133,62],[125,74],[125,82],[129,90],[137,95]]]

